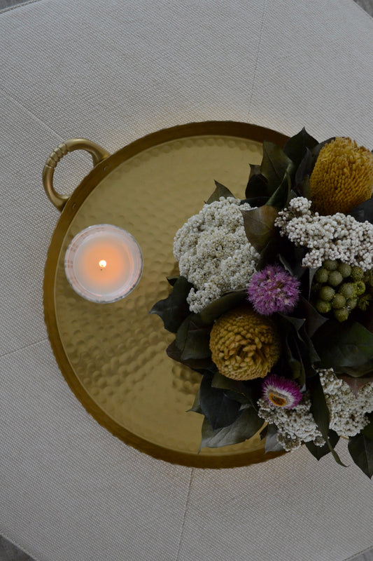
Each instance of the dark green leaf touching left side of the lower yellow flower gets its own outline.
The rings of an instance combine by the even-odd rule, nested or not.
[[[180,349],[181,358],[207,358],[211,356],[210,351],[211,327],[202,324],[195,313],[185,318],[176,332],[176,346]]]

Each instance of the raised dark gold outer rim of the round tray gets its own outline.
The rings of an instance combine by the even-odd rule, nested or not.
[[[59,254],[70,224],[85,202],[87,196],[108,173],[111,173],[118,165],[132,158],[132,156],[170,140],[206,135],[244,138],[245,140],[253,140],[260,143],[264,140],[268,140],[270,142],[275,142],[281,147],[285,144],[286,140],[288,140],[288,137],[282,133],[249,123],[241,123],[238,121],[201,121],[157,130],[138,140],[134,140],[134,142],[127,144],[114,154],[108,156],[108,158],[105,158],[95,165],[90,173],[78,184],[78,187],[76,187],[73,194],[71,194],[69,200],[66,202],[57,221],[45,261],[43,309],[50,346],[59,370],[76,398],[78,398],[83,407],[85,407],[85,410],[87,410],[101,426],[104,426],[106,430],[122,440],[122,442],[125,442],[125,444],[136,448],[136,450],[171,464],[179,464],[181,466],[194,468],[234,468],[262,463],[274,457],[278,457],[284,454],[284,452],[265,453],[264,450],[254,450],[211,456],[199,455],[193,454],[192,452],[171,450],[162,445],[148,442],[148,440],[128,431],[101,410],[97,403],[90,397],[89,393],[87,393],[83,384],[80,383],[80,380],[70,365],[69,358],[64,351],[62,340],[59,337],[55,309],[55,276],[57,264],[59,262]]]

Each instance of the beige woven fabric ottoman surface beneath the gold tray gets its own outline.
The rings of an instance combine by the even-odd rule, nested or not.
[[[85,412],[43,323],[59,213],[41,185],[61,140],[113,152],[188,121],[306,126],[372,148],[372,33],[352,0],[39,0],[0,14],[0,534],[36,560],[344,561],[373,546],[373,483],[356,466],[303,449],[172,466]],[[67,157],[58,189],[89,169]]]

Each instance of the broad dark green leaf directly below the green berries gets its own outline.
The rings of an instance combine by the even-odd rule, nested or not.
[[[373,370],[373,333],[358,322],[329,320],[314,337],[321,367],[360,377]]]

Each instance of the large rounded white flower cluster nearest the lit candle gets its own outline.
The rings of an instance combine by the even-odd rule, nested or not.
[[[258,252],[248,242],[239,199],[220,197],[185,222],[174,238],[180,274],[195,285],[187,301],[198,313],[225,292],[244,288],[255,273]]]

